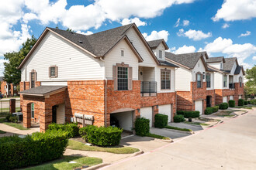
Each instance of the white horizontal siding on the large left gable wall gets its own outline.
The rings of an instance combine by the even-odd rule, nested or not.
[[[58,77],[49,77],[49,66],[58,66]],[[26,66],[26,69],[24,69]],[[102,80],[104,66],[70,42],[48,32],[40,45],[22,67],[22,81],[29,80],[29,72],[36,70],[37,81]],[[26,70],[26,79],[25,78]]]

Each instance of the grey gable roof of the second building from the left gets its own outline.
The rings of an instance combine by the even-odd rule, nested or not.
[[[203,59],[203,56],[202,56],[204,54],[205,52],[184,53],[184,54],[174,54],[170,52],[165,52],[165,57],[167,59],[170,59],[171,61],[174,61],[175,63],[179,63],[182,66],[185,66],[187,69],[193,69],[195,67],[195,64],[198,62],[198,60],[202,59],[202,63],[206,67],[206,70],[208,70],[205,59]]]

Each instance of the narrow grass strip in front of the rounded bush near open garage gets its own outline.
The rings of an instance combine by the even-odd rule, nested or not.
[[[99,146],[88,146],[80,141],[69,140],[67,148],[82,151],[104,151],[113,154],[133,154],[140,151],[137,148],[114,146],[114,147],[99,147]]]

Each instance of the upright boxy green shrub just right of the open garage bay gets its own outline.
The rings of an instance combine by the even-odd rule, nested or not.
[[[135,132],[139,136],[146,136],[150,131],[150,120],[140,117],[135,121]]]

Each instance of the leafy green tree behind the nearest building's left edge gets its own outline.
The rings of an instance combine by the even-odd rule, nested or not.
[[[26,39],[26,42],[22,43],[22,48],[19,49],[19,52],[5,53],[4,59],[7,59],[8,62],[5,62],[5,71],[4,71],[4,80],[7,83],[13,83],[15,85],[20,82],[20,70],[18,66],[22,63],[22,60],[29,53],[30,49],[36,43],[36,38],[34,36],[31,39]]]

